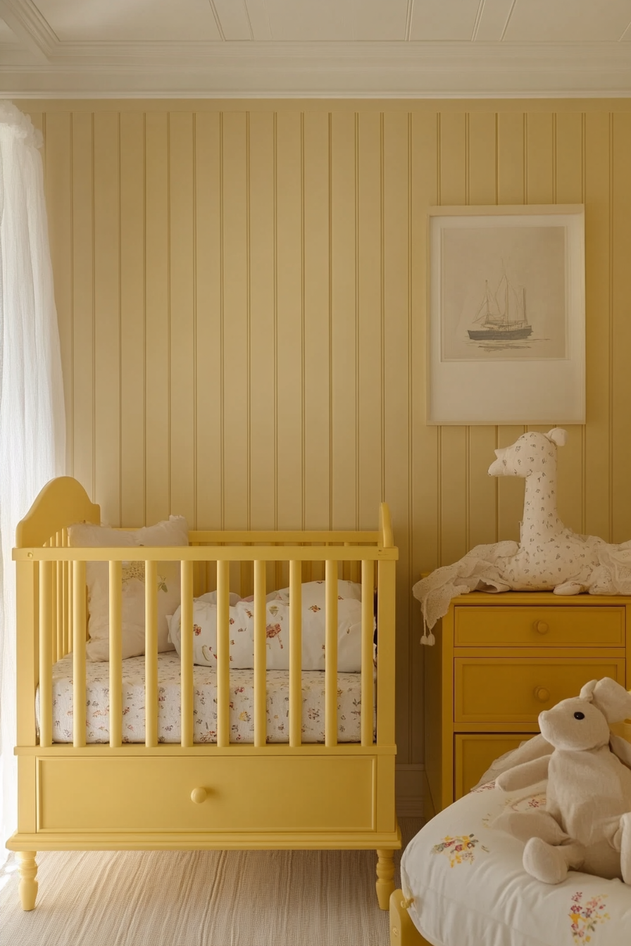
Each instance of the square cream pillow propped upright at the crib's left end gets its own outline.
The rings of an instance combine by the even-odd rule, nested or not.
[[[170,516],[164,522],[142,529],[119,530],[89,522],[68,528],[72,548],[111,546],[186,546],[188,526],[184,516]],[[135,556],[134,556],[135,558]],[[145,653],[145,564],[123,562],[122,626],[123,657]],[[110,589],[107,562],[87,562],[88,632],[86,653],[91,660],[110,659]],[[167,614],[180,604],[180,563],[158,562],[158,651],[173,650],[168,639]]]

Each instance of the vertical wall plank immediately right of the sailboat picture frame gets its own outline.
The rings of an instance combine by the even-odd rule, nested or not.
[[[586,115],[586,528],[609,541],[611,503],[609,115]]]

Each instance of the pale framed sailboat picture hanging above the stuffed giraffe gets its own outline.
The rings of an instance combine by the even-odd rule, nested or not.
[[[585,422],[582,204],[429,209],[429,424]]]

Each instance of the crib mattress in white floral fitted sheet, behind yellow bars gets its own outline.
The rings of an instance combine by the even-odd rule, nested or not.
[[[86,743],[110,739],[110,665],[86,662]],[[53,667],[53,742],[72,743],[72,654]],[[303,742],[324,743],[324,673],[303,671]],[[230,672],[230,740],[254,743],[254,671]],[[36,711],[39,724],[39,689]],[[145,742],[145,657],[123,660],[123,742]],[[217,742],[217,673],[211,667],[193,667],[193,741]],[[338,741],[359,743],[361,674],[338,674]],[[158,739],[179,743],[180,657],[158,655]],[[267,674],[267,742],[289,742],[289,672]]]

